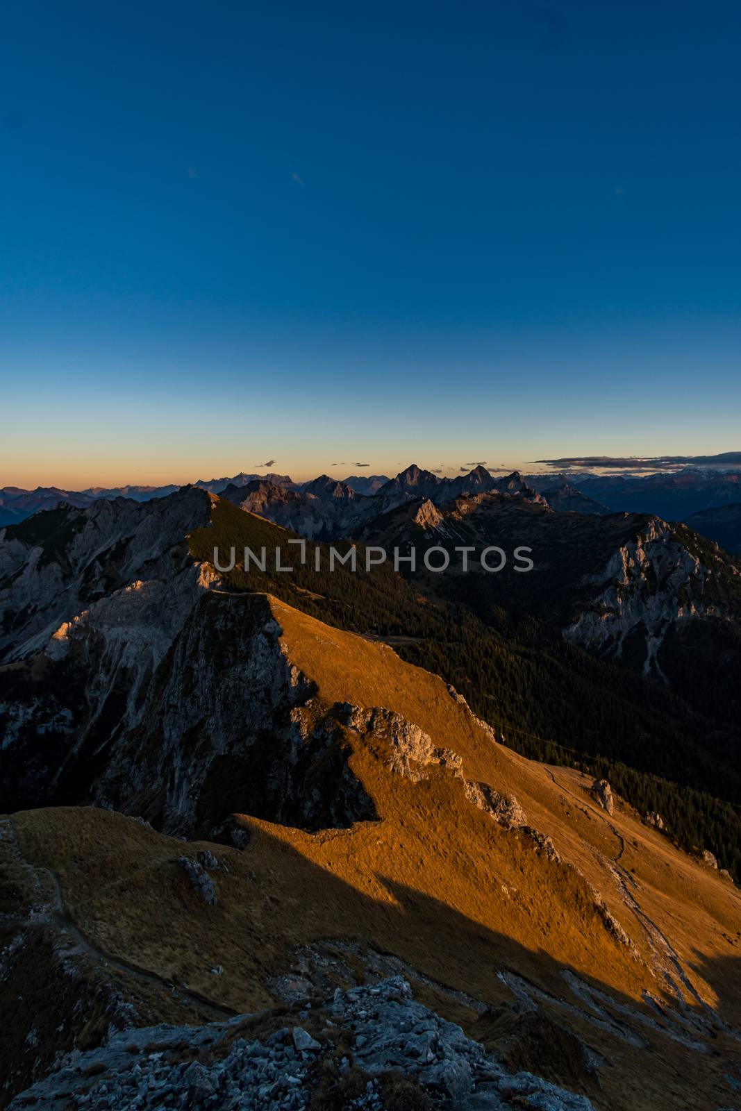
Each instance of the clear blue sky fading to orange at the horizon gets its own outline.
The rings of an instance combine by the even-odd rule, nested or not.
[[[723,0],[10,6],[0,486],[741,449],[740,47]]]

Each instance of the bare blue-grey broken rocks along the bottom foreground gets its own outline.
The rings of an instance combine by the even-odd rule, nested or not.
[[[301,1014],[312,1032],[286,1025],[250,1037],[246,1015],[116,1032],[100,1049],[69,1054],[10,1109],[391,1111],[402,1098],[420,1111],[592,1108],[584,1095],[508,1071],[460,1027],[415,1002],[401,975],[337,989],[321,1008]]]

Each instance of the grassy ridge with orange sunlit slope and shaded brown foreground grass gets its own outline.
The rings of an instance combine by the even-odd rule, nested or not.
[[[269,595],[212,589],[202,602],[221,613],[247,607],[250,621],[240,627],[260,667],[267,660],[262,643],[272,643],[274,659],[282,660],[288,683],[269,681],[269,704],[290,709],[304,763],[287,759],[290,749],[281,754],[279,747],[271,759],[298,774],[300,822],[286,822],[290,812],[248,809],[217,831],[223,843],[213,837],[199,841],[196,830],[197,840],[183,844],[110,810],[16,815],[14,867],[22,863],[38,883],[49,869],[61,878],[69,921],[86,931],[94,952],[110,954],[102,965],[96,958],[98,968],[116,959],[154,978],[147,1002],[153,1015],[178,1005],[177,997],[157,989],[160,978],[186,982],[197,1008],[226,1009],[241,1021],[286,1000],[302,1001],[304,1010],[312,1002],[320,1025],[311,1029],[319,1034],[327,1005],[321,992],[328,991],[327,971],[320,970],[340,978],[330,979],[337,1000],[334,985],[348,982],[343,958],[372,985],[378,980],[370,970],[384,954],[387,968],[403,970],[414,994],[423,992],[435,1011],[462,1019],[473,1037],[481,1015],[491,1013],[487,1008],[499,1013],[525,999],[541,1021],[552,1015],[559,1030],[597,1054],[591,1070],[582,1065],[564,1075],[562,1063],[552,1079],[588,1092],[597,1105],[645,1107],[648,1083],[657,1099],[662,1092],[664,1105],[679,1107],[669,1079],[677,1073],[682,1099],[688,1090],[723,1090],[723,1070],[737,1055],[730,1024],[738,1021],[733,985],[740,974],[728,939],[741,924],[728,880],[673,849],[620,799],[604,812],[590,793],[591,779],[501,747],[455,691],[403,663],[389,647],[324,625]],[[233,659],[233,635],[224,639],[212,620],[209,628],[217,634],[212,650],[228,647],[234,674],[254,691],[242,661]],[[217,657],[213,671],[222,671],[223,662]],[[312,763],[314,735],[321,743]],[[207,751],[202,743],[192,748],[200,761]],[[343,761],[339,778],[326,755],[334,751]],[[191,788],[194,768],[186,758],[178,769]],[[144,780],[151,777],[151,769],[141,772]],[[211,782],[211,794],[216,790],[228,805],[240,782],[232,761]],[[224,794],[230,789],[231,798]],[[177,784],[173,790],[182,803],[187,795]],[[287,797],[283,789],[281,804]],[[242,798],[256,804],[264,797]],[[144,803],[146,797],[131,801]],[[301,809],[304,803],[314,809]],[[0,851],[8,843],[3,837]],[[189,891],[179,864],[183,852],[207,861],[213,907]],[[106,878],[113,860],[119,881],[111,890]],[[435,897],[441,891],[445,902]],[[300,905],[301,913],[277,919],[276,905]],[[33,959],[30,930],[21,928],[17,941],[11,990],[27,974],[23,962]],[[217,965],[226,971],[214,977],[209,969]],[[49,974],[53,982],[59,973]],[[137,1027],[147,1028],[137,993],[141,985],[124,975],[119,999],[130,999],[136,1015],[129,1012],[130,1040]],[[21,1035],[29,1021],[22,1019]],[[188,1045],[197,1028],[189,1033],[179,1021],[180,1044]],[[150,1030],[146,1037],[151,1044],[160,1035]],[[3,1038],[13,1040],[14,1030]],[[110,1054],[94,1059],[109,1071],[122,1068]],[[538,1055],[528,1063],[537,1073]],[[651,1080],[638,1084],[647,1070]],[[432,1083],[424,1072],[412,1075]],[[21,1069],[17,1090],[23,1091],[28,1077]],[[461,1099],[478,1090],[478,1077],[461,1082]]]

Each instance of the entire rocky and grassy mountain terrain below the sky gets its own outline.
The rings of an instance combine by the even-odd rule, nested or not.
[[[0,1105],[730,1107],[741,562],[518,473],[236,478],[0,530]]]

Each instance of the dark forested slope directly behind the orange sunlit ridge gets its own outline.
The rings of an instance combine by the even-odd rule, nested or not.
[[[342,629],[402,638],[400,655],[442,675],[518,751],[605,775],[641,812],[659,811],[687,849],[704,847],[741,874],[741,771],[713,729],[677,694],[627,669],[593,659],[528,619],[493,628],[463,604],[431,602],[384,564],[329,571],[327,546],[307,541],[307,562],[292,533],[230,502],[213,499],[212,524],[189,538],[193,556],[220,562],[236,549],[229,589],[270,591]],[[243,549],[267,549],[266,572],[244,572]],[[281,548],[282,565],[274,570]],[[316,571],[316,550],[321,570]],[[343,552],[347,544],[339,544]],[[363,549],[358,565],[364,567]]]

